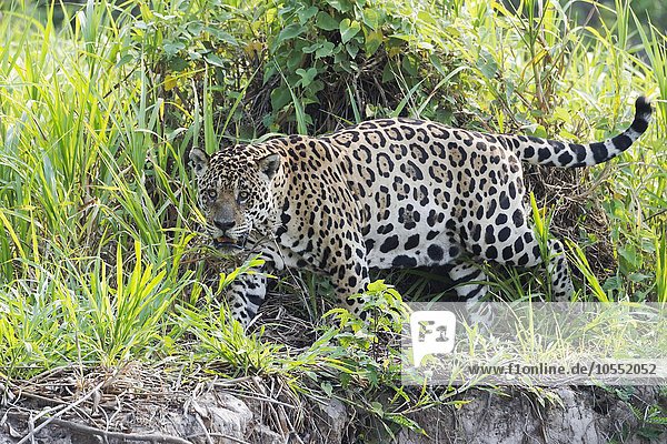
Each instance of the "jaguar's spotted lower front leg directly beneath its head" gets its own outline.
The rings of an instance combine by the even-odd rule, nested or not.
[[[257,316],[267,295],[267,278],[263,273],[243,273],[235,279],[227,290],[231,315],[243,327]]]

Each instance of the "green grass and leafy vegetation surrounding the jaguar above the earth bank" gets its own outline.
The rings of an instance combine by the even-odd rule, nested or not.
[[[301,296],[282,297],[307,309],[300,321],[249,334],[229,321],[218,294],[233,273],[218,283],[225,258],[198,233],[186,164],[193,145],[377,117],[590,141],[625,128],[647,94],[654,123],[619,160],[528,180],[538,228],[548,235],[550,220],[570,241],[581,299],[665,302],[663,3],[2,2],[0,377],[20,385],[68,366],[84,380],[129,362],[192,382],[251,374],[291,397],[335,394],[381,433],[418,427],[406,413],[448,395],[396,386],[396,356],[378,351],[396,320],[321,323],[327,283],[303,274],[278,285]],[[490,275],[499,297],[521,299],[548,293],[539,274]],[[431,271],[389,280],[404,295],[441,296]],[[398,304],[386,285],[369,293],[378,312]],[[266,317],[291,316],[280,310]]]

